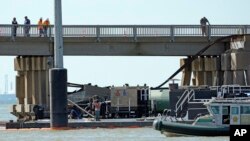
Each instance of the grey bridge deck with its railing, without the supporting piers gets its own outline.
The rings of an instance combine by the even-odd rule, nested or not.
[[[64,55],[192,56],[219,37],[249,33],[250,25],[211,25],[207,36],[202,36],[200,25],[65,25]],[[24,25],[19,25],[13,37],[12,25],[0,25],[0,55],[51,56],[53,26],[47,36],[39,37],[37,25],[31,25],[30,37],[24,37]],[[217,43],[204,55],[220,55],[229,41]]]

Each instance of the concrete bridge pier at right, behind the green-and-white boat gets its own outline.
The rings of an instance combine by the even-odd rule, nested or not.
[[[249,85],[249,44],[243,39],[231,39],[230,47],[220,56],[199,56],[182,72],[182,86]],[[187,59],[181,59],[182,66]],[[193,73],[193,76],[191,75]]]

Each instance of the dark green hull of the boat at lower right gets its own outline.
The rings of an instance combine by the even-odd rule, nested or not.
[[[178,123],[171,121],[162,121],[156,119],[153,122],[153,127],[156,130],[163,132],[171,132],[195,136],[228,136],[229,127],[225,126],[205,126],[205,125],[192,125],[187,123]]]

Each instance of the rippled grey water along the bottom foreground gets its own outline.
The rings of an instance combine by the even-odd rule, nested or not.
[[[1,130],[0,141],[228,141],[228,137],[165,136],[152,128]]]

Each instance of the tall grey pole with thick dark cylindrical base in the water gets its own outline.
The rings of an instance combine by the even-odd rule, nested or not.
[[[50,127],[68,126],[67,70],[63,68],[62,2],[54,0],[55,37],[54,68],[49,71],[50,81]]]

